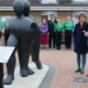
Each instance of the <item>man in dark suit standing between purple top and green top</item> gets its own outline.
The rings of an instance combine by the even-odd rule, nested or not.
[[[53,16],[51,16],[51,20],[48,20],[47,24],[48,24],[48,47],[51,48],[52,47],[52,41],[53,41],[53,47],[55,48],[55,32],[54,32],[54,24],[56,23],[57,21],[54,20]]]

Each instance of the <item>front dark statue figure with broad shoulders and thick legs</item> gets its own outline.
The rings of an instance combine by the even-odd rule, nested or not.
[[[19,55],[21,76],[25,77],[34,74],[34,72],[29,68],[26,63],[30,57],[31,47],[34,40],[40,37],[37,33],[37,25],[30,18],[23,15],[23,1],[14,0],[13,9],[16,16],[13,16],[9,22],[6,23],[4,26],[6,30],[10,30],[10,36],[8,38],[7,46],[15,47],[7,64],[8,76],[4,79],[6,85],[10,85],[14,79],[15,51],[18,51]]]

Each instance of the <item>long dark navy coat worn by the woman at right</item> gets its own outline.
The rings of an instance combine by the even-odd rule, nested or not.
[[[74,30],[74,42],[75,42],[75,52],[78,54],[87,53],[87,37],[84,35],[84,31],[88,31],[88,23],[84,23],[82,29],[80,24],[77,23]]]

